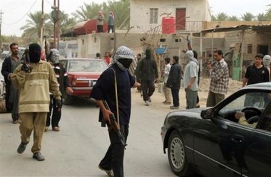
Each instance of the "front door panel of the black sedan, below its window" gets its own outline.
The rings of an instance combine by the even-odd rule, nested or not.
[[[241,176],[245,142],[253,128],[223,118],[202,120],[195,132],[195,162],[212,176]]]

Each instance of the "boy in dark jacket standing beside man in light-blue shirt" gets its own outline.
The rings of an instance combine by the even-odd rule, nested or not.
[[[180,79],[181,79],[181,68],[178,63],[179,57],[173,56],[173,65],[170,68],[170,73],[168,75],[167,87],[171,89],[171,95],[173,97],[173,105],[170,109],[179,109],[179,90],[180,90]]]

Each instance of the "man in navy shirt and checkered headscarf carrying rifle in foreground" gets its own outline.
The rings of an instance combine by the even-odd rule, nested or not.
[[[124,176],[123,156],[131,116],[131,87],[139,85],[128,72],[133,59],[134,54],[130,48],[119,47],[112,65],[101,74],[91,92],[91,97],[100,107],[99,122],[108,125],[111,145],[98,165],[108,176]]]

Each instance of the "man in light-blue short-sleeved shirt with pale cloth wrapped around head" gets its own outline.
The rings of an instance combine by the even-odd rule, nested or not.
[[[183,85],[185,87],[186,109],[196,107],[198,95],[198,60],[194,58],[192,50],[185,53],[185,73],[183,77]]]

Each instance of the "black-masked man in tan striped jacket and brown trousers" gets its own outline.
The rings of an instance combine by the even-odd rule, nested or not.
[[[29,143],[34,129],[34,144],[31,148],[33,158],[44,161],[41,155],[41,140],[44,135],[50,96],[57,100],[56,107],[61,107],[61,92],[56,75],[50,63],[41,60],[41,46],[37,43],[29,45],[27,64],[19,65],[11,75],[12,84],[19,89],[19,124],[21,144],[17,152],[22,154]]]

